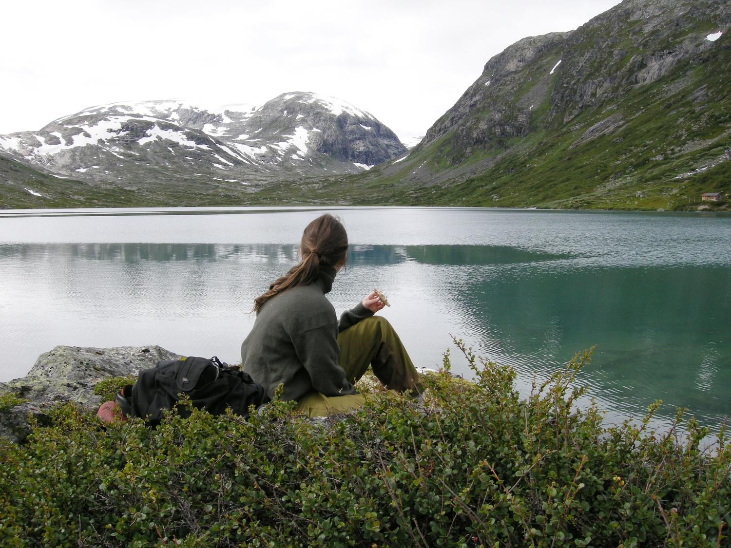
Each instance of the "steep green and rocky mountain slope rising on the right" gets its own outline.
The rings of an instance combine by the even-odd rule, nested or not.
[[[319,193],[351,203],[695,209],[731,193],[728,1],[624,1],[510,46],[406,159]],[[561,61],[558,64],[558,61]]]

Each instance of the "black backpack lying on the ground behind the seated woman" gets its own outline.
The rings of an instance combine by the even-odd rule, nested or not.
[[[175,408],[183,418],[190,415],[186,406],[178,403],[183,395],[190,398],[193,407],[213,415],[230,407],[235,414],[247,417],[249,406],[264,402],[264,389],[248,373],[215,356],[162,359],[154,368],[142,371],[135,384],[121,389],[115,401],[124,415],[146,417],[154,427],[162,420],[164,409]]]

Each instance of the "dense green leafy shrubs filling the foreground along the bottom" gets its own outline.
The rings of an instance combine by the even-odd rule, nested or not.
[[[521,399],[475,357],[474,383],[425,376],[423,400],[374,392],[341,420],[275,400],[248,420],[192,409],[156,430],[56,406],[0,443],[8,546],[727,545],[731,454],[690,419],[648,433],[580,410],[584,354]],[[445,354],[444,369],[450,368]]]

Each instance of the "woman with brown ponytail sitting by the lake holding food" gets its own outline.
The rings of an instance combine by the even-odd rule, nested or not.
[[[368,365],[387,389],[418,392],[419,375],[391,324],[374,313],[385,303],[371,292],[338,322],[325,294],[345,265],[348,235],[325,214],[305,228],[301,261],[254,299],[257,319],[241,345],[241,365],[272,398],[325,416],[363,405],[354,384]]]

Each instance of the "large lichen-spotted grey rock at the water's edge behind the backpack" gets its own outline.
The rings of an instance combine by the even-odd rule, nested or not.
[[[94,408],[101,403],[99,396],[94,394],[94,385],[102,379],[136,375],[154,367],[160,359],[179,357],[160,346],[107,349],[56,346],[41,354],[25,377],[0,383],[0,393],[15,393],[36,406],[75,401]],[[0,422],[4,422],[4,418]]]

